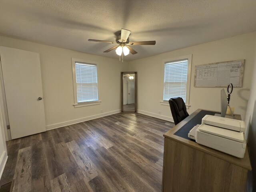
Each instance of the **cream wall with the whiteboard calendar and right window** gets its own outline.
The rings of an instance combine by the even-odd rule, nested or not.
[[[235,113],[241,114],[244,120],[254,65],[254,35],[255,32],[243,34],[129,62],[129,70],[138,72],[138,112],[172,120],[170,107],[160,103],[163,97],[163,60],[192,54],[191,107],[188,113],[191,114],[198,108],[220,111],[221,88],[194,87],[196,65],[246,59],[243,87],[234,88],[230,100]]]

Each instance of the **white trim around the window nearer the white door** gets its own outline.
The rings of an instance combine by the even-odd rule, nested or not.
[[[92,106],[92,105],[98,105],[101,104],[100,100],[100,86],[99,86],[99,63],[95,61],[90,61],[90,60],[83,60],[83,59],[78,59],[78,58],[71,58],[72,59],[72,76],[73,76],[73,92],[74,92],[74,104],[73,106],[75,108],[78,107],[84,107],[84,106]],[[81,63],[86,63],[86,64],[94,64],[97,66],[97,89],[98,89],[98,101],[92,101],[92,102],[77,102],[77,89],[76,89],[76,62],[81,62]]]

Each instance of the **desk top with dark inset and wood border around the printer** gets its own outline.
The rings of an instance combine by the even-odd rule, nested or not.
[[[200,150],[202,152],[208,153],[208,154],[213,155],[213,156],[215,156],[217,158],[220,158],[220,159],[223,159],[225,161],[228,161],[228,162],[230,162],[232,164],[236,164],[236,165],[238,165],[240,167],[246,168],[247,170],[252,170],[252,167],[251,167],[251,164],[250,164],[250,158],[249,158],[249,154],[248,154],[248,148],[246,148],[246,152],[244,154],[244,158],[237,158],[237,157],[228,155],[226,153],[223,153],[223,152],[220,152],[220,151],[208,148],[206,146],[200,145],[200,144],[190,140],[189,138],[183,138],[182,136],[179,136],[179,134],[182,134],[182,135],[186,134],[186,136],[188,137],[188,132],[196,124],[201,124],[201,121],[198,122],[198,119],[202,115],[203,115],[202,117],[204,117],[206,115],[206,113],[214,113],[215,114],[215,113],[218,113],[218,112],[210,111],[210,110],[198,109],[195,112],[193,112],[192,114],[190,114],[190,116],[188,116],[182,122],[178,123],[176,126],[171,128],[168,132],[166,132],[164,134],[164,137],[172,139],[172,140],[175,140],[176,142],[180,142],[180,143],[182,143],[184,145],[187,145],[189,147],[196,148],[197,150]],[[241,120],[241,116],[240,115],[235,115],[235,117],[238,120]],[[201,120],[202,120],[202,118],[201,118]],[[184,130],[183,130],[183,127],[184,127]]]

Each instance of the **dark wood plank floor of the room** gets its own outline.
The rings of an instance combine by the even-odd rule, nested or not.
[[[174,124],[119,113],[7,142],[0,185],[12,192],[160,192]]]

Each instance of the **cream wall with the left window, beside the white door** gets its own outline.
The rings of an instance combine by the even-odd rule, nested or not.
[[[127,71],[127,62],[3,36],[0,45],[40,54],[46,129],[120,112],[120,73]],[[71,58],[99,63],[100,105],[74,108]]]

